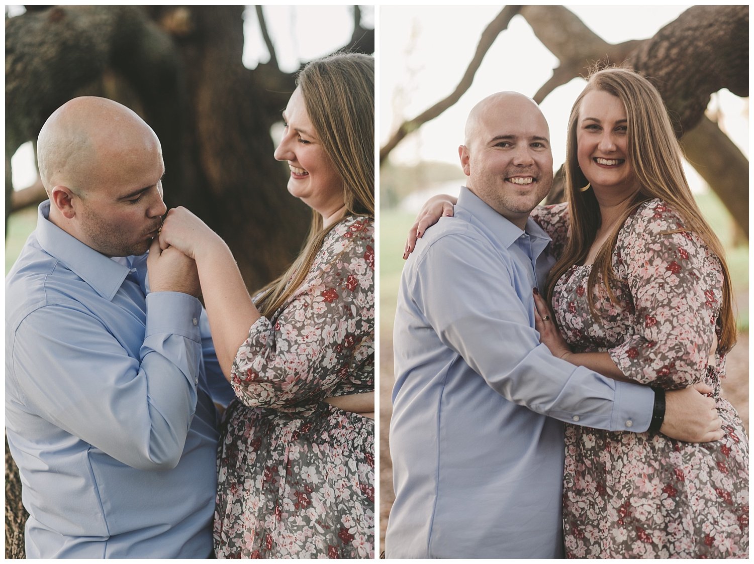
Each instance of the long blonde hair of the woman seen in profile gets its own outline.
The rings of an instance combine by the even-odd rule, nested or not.
[[[343,183],[347,215],[375,215],[375,67],[361,53],[336,53],[309,62],[296,81],[306,111],[327,156]],[[288,270],[262,288],[256,306],[270,317],[296,292],[338,221],[323,227],[312,210],[311,227],[302,252]]]

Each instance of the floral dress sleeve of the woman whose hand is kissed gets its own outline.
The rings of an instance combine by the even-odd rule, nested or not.
[[[323,249],[274,322],[259,318],[234,360],[231,384],[250,407],[311,404],[348,383],[374,353],[374,231],[356,225]]]

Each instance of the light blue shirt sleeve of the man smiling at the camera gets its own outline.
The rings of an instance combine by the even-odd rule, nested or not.
[[[539,343],[533,300],[525,306],[516,294],[510,258],[467,236],[438,242],[418,265],[410,294],[440,340],[495,392],[565,422],[608,431],[648,428],[651,389],[575,367]]]

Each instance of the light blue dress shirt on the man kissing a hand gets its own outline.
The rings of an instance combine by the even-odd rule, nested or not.
[[[6,279],[5,424],[26,555],[206,558],[218,434],[201,304],[145,296],[146,255],[119,264],[49,209]]]

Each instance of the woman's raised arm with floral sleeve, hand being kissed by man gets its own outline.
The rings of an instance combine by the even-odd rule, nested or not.
[[[374,352],[374,229],[359,219],[334,233],[341,239],[329,249],[332,262],[311,273],[273,325],[252,303],[225,242],[189,210],[168,213],[160,245],[197,262],[220,367],[245,404],[283,407],[323,399],[351,377],[351,369],[368,369],[365,359]],[[359,398],[353,410],[373,411],[373,397],[364,401]]]

